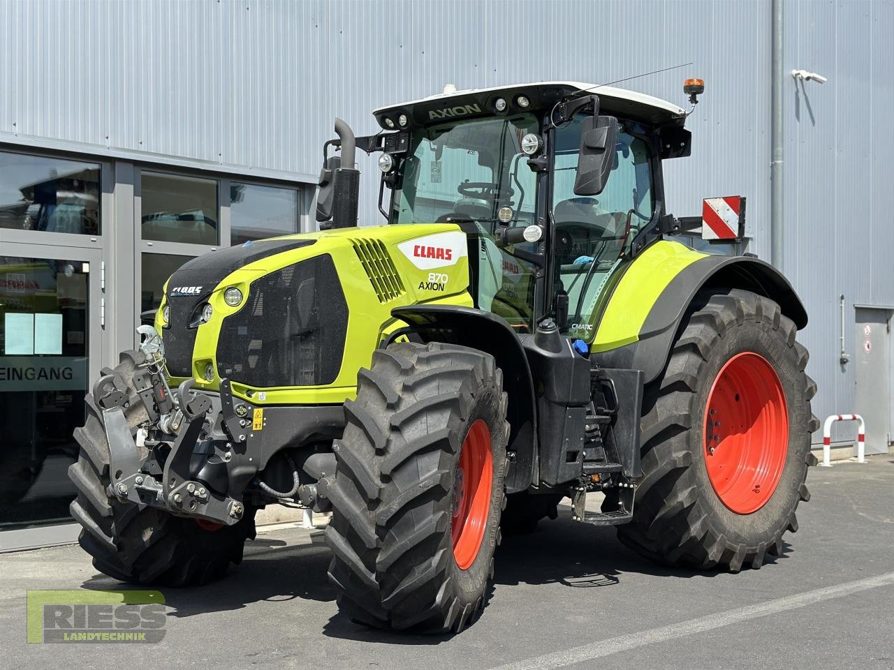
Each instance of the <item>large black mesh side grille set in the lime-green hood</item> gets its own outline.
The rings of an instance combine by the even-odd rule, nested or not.
[[[332,257],[308,258],[251,282],[245,305],[223,319],[217,372],[261,389],[330,384],[347,329]]]

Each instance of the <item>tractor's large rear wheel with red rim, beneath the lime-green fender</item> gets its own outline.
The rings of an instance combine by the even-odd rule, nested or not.
[[[816,385],[804,372],[808,356],[795,340],[795,324],[775,302],[736,289],[703,296],[701,305],[684,322],[662,377],[646,389],[644,476],[634,520],[618,534],[628,548],[664,564],[738,572],[743,565],[759,568],[768,553],[779,556],[782,535],[797,531],[798,503],[810,498],[807,466],[816,462],[810,453],[819,427],[810,409]],[[723,373],[730,370],[738,375],[732,382]],[[718,378],[725,381],[715,384]],[[721,384],[730,395],[722,401],[721,391],[713,391]],[[747,392],[762,384],[766,393]],[[782,397],[776,406],[774,393]],[[750,414],[740,402],[753,403]],[[725,431],[724,441],[713,431]],[[730,444],[741,456],[734,451],[722,461],[730,457],[722,447]]]

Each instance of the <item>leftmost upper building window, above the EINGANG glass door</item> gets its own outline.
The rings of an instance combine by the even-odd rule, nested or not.
[[[0,228],[98,235],[99,165],[0,152]]]

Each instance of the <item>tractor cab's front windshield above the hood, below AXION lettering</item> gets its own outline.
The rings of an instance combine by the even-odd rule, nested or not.
[[[392,200],[392,222],[468,220],[493,234],[503,207],[511,210],[510,227],[535,222],[536,173],[527,166],[521,138],[537,130],[533,114],[414,130]]]

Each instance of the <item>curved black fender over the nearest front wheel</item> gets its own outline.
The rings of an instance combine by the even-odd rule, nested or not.
[[[509,323],[490,312],[454,305],[396,307],[392,316],[409,323],[410,330],[425,342],[458,344],[493,356],[509,396],[508,451],[515,454],[506,471],[506,490],[527,490],[534,481],[536,464],[536,402],[527,356]],[[401,331],[392,333],[392,338]]]

